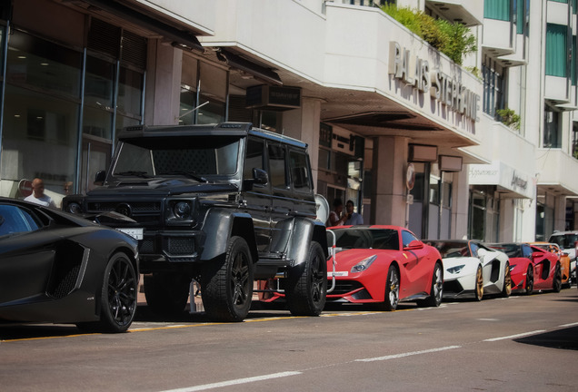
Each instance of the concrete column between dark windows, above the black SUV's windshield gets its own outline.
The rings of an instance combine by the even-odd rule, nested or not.
[[[183,51],[161,40],[151,40],[148,49],[145,123],[178,124]]]

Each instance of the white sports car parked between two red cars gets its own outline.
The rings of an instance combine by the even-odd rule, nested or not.
[[[426,240],[442,255],[443,298],[484,295],[509,297],[512,293],[510,260],[499,250],[493,250],[476,240]]]

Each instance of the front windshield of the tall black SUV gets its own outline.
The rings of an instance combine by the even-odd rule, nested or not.
[[[171,139],[171,138],[166,138]],[[180,175],[205,181],[204,176],[237,171],[239,138],[191,137],[181,142],[160,138],[133,139],[119,146],[115,176]],[[138,143],[138,144],[137,144]]]

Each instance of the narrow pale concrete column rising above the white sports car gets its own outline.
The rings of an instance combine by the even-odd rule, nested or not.
[[[453,173],[452,184],[452,230],[453,239],[467,238],[468,209],[470,205],[470,184],[468,165],[463,170]]]

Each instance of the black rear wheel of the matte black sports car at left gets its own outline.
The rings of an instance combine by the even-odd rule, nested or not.
[[[125,253],[119,252],[108,260],[101,290],[100,321],[79,323],[81,330],[125,332],[135,319],[138,277]]]

